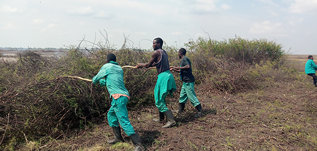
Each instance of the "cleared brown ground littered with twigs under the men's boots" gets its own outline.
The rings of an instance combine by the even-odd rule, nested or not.
[[[239,94],[202,94],[195,87],[204,116],[188,101],[184,113],[174,113],[177,125],[162,129],[156,123],[153,104],[129,111],[131,124],[139,132],[147,151],[313,151],[317,150],[317,88],[303,73],[305,58],[292,55],[298,67],[297,80],[271,81],[262,90]],[[177,110],[178,98],[168,98],[168,108]],[[133,151],[130,138],[107,144],[113,137],[106,118],[76,132],[65,132],[47,143],[28,142],[21,150],[33,151]]]

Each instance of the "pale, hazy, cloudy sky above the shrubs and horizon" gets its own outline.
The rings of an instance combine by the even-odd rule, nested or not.
[[[86,41],[152,49],[198,37],[265,38],[317,54],[317,0],[0,0],[0,47],[67,48]],[[92,47],[90,43],[87,47]]]

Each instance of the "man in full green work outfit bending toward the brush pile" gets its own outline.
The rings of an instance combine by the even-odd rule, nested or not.
[[[99,82],[100,86],[107,86],[107,90],[112,97],[111,107],[108,112],[108,124],[112,127],[115,136],[114,139],[107,140],[107,143],[122,142],[120,123],[123,131],[130,136],[132,143],[135,145],[134,151],[144,151],[139,133],[134,131],[128,118],[126,106],[130,95],[124,86],[123,70],[116,62],[114,54],[107,55],[106,64],[93,77],[92,82],[94,84]]]

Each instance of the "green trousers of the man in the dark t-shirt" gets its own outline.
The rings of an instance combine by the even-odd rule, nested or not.
[[[186,103],[187,99],[189,99],[190,103],[194,105],[194,107],[198,106],[200,102],[194,91],[195,82],[185,83],[183,82],[183,86],[181,87],[179,103]]]

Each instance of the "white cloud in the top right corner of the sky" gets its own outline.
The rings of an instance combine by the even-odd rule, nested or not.
[[[317,0],[295,0],[289,8],[291,13],[317,13]]]

